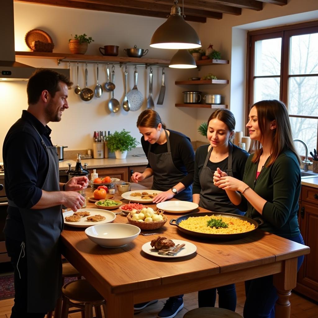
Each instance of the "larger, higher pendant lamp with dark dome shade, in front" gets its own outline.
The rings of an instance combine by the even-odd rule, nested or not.
[[[197,32],[184,21],[181,9],[174,1],[167,21],[153,34],[150,46],[158,49],[195,49],[201,47]]]

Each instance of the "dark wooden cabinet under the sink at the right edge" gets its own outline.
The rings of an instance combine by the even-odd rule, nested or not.
[[[300,204],[300,229],[310,254],[305,255],[298,272],[295,290],[318,301],[318,189],[302,186]]]

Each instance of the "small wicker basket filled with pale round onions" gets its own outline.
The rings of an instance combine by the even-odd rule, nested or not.
[[[167,217],[162,210],[154,211],[152,208],[142,210],[132,210],[127,215],[128,222],[136,225],[142,230],[156,230],[162,227],[167,221]]]

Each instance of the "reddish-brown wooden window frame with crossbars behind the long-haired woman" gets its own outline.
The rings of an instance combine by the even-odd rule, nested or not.
[[[281,63],[280,63],[280,100],[284,102],[288,109],[288,80],[290,77],[295,76],[317,76],[317,74],[293,74],[288,75],[288,66],[289,66],[289,45],[290,45],[290,37],[295,35],[302,35],[308,33],[317,33],[318,32],[318,20],[298,23],[298,24],[290,24],[290,25],[282,25],[274,28],[267,28],[255,31],[247,32],[247,54],[246,54],[246,107],[245,114],[246,120],[248,118],[248,114],[250,112],[251,106],[253,105],[253,97],[254,97],[254,79],[255,78],[273,78],[277,76],[254,76],[254,65],[255,65],[255,43],[259,40],[266,40],[270,38],[281,38]],[[311,115],[297,115],[290,114],[289,117],[296,118],[310,118],[316,119],[318,121],[317,116]],[[247,128],[245,128],[245,133],[247,134]],[[318,125],[317,125],[317,145],[318,148]]]

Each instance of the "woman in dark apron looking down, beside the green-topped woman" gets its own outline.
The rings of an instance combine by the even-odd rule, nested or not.
[[[204,209],[243,215],[244,212],[234,207],[225,191],[213,184],[213,174],[217,168],[225,171],[228,176],[243,179],[245,162],[249,155],[229,141],[234,129],[234,115],[227,109],[218,109],[209,117],[207,138],[210,144],[201,146],[196,151],[192,193],[193,202]],[[219,308],[235,311],[235,284],[199,291],[199,307],[214,307],[217,291]]]

